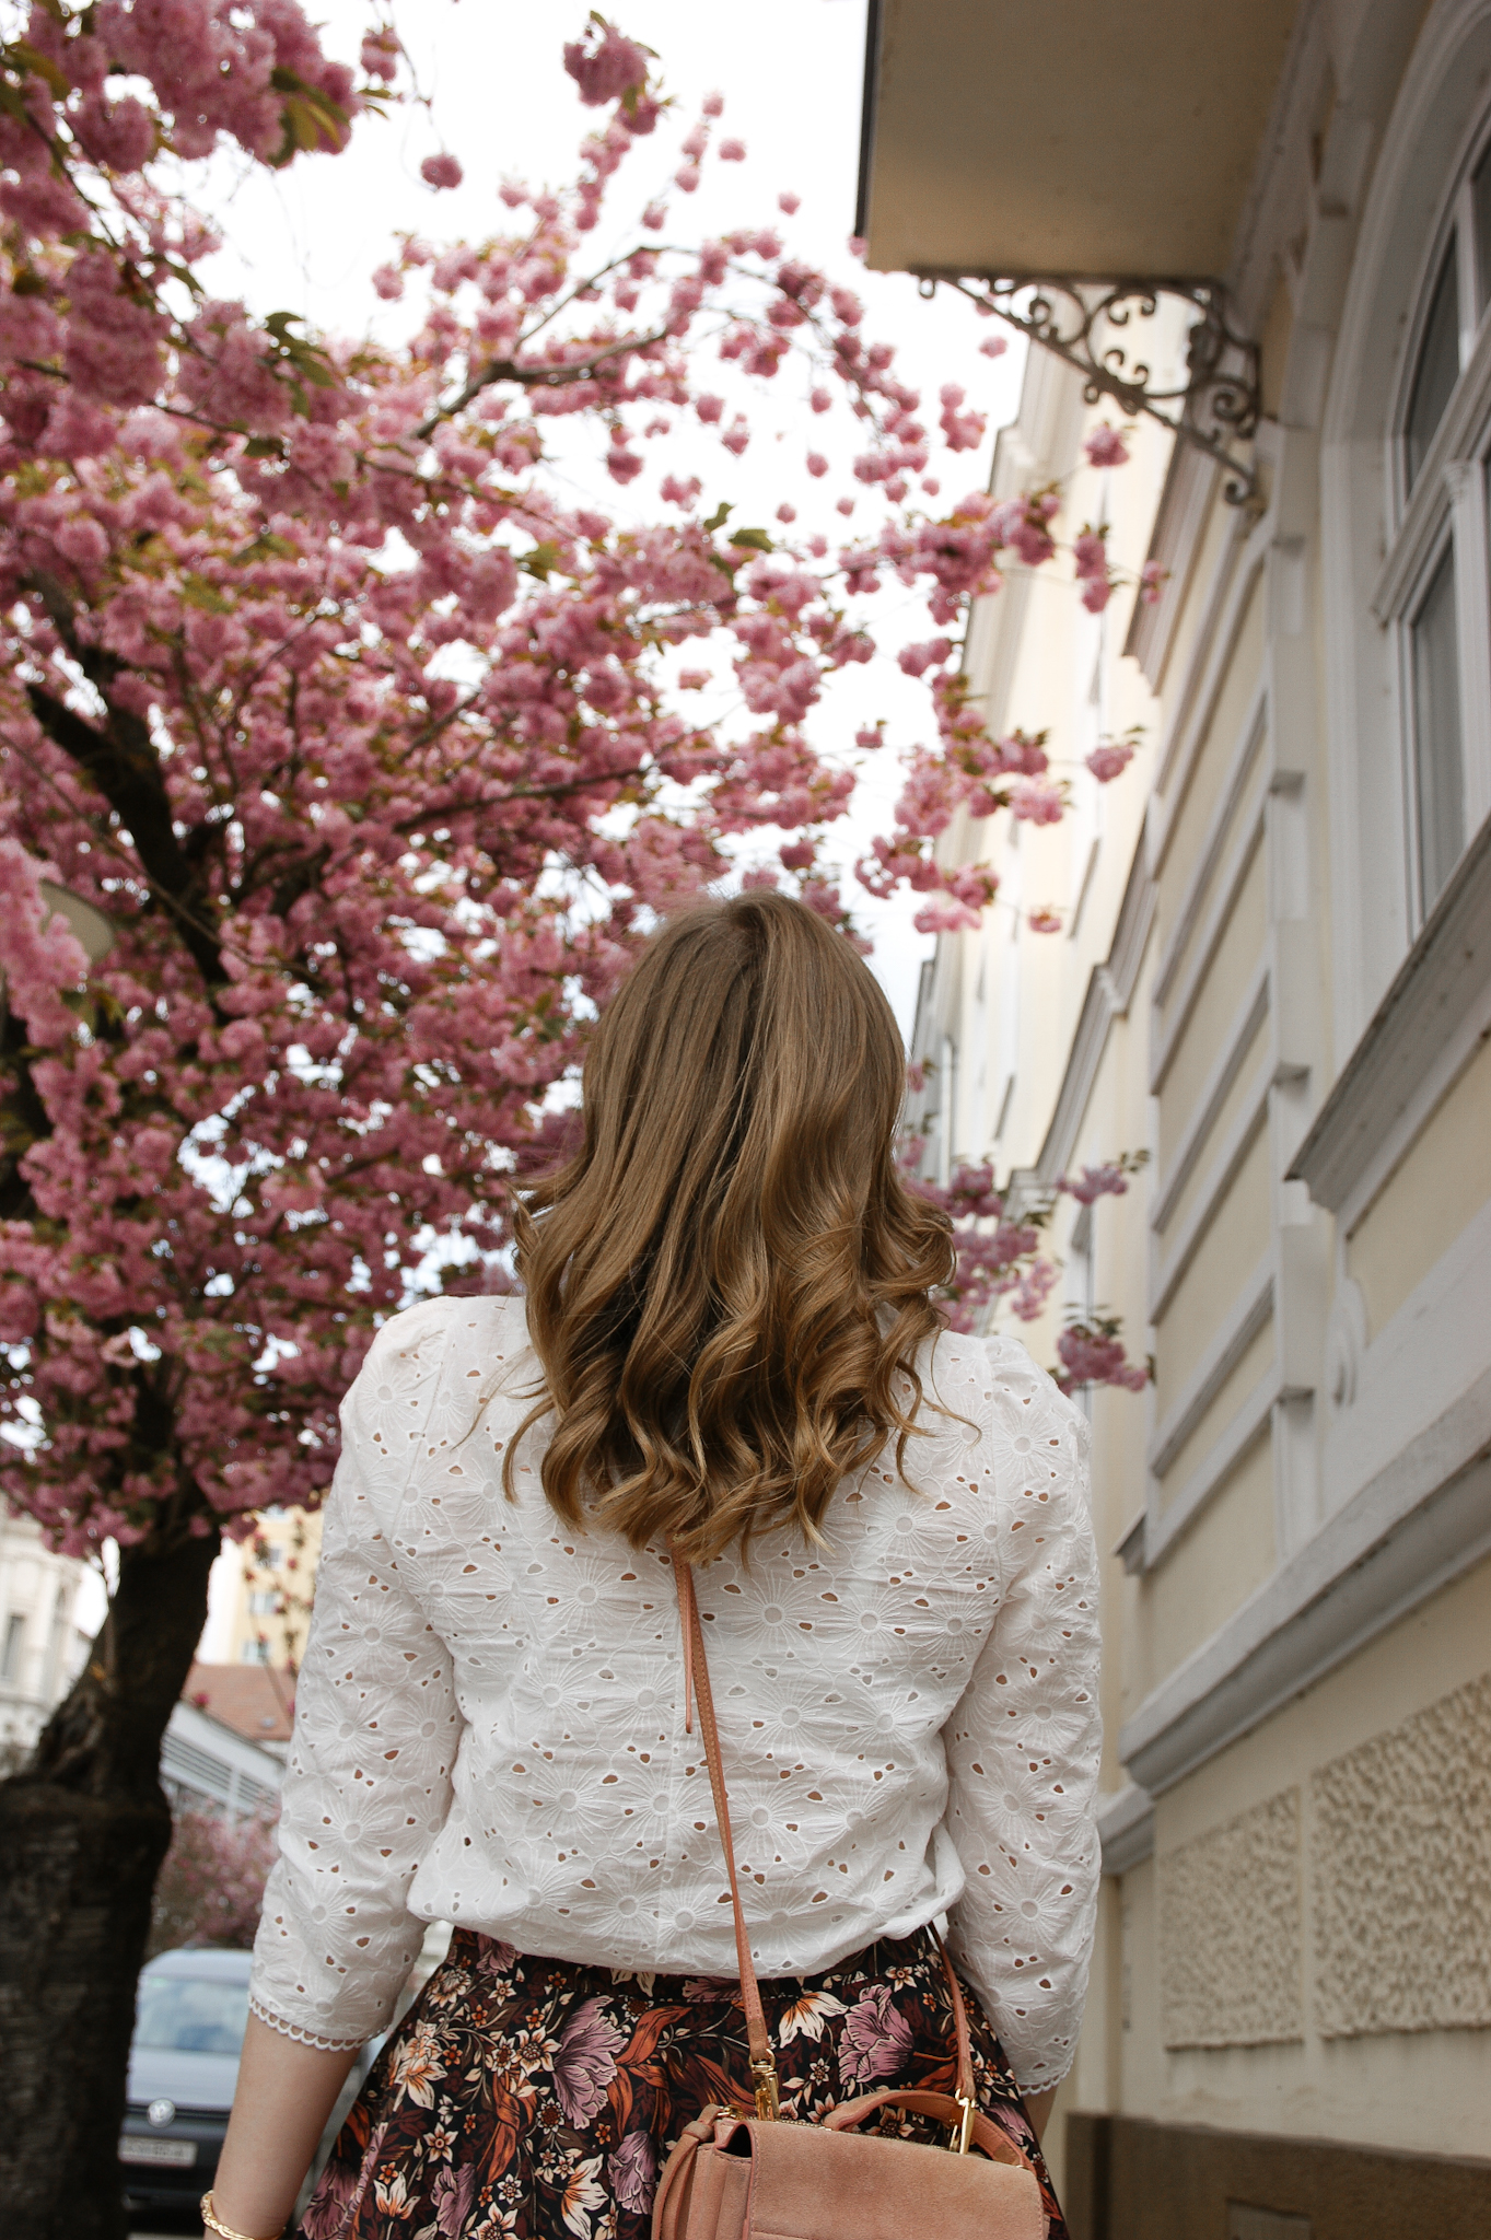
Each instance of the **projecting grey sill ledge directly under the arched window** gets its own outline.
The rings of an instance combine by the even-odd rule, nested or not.
[[[1339,1214],[1408,1113],[1435,1060],[1491,986],[1491,820],[1471,840],[1424,932],[1334,1080],[1287,1180]],[[1466,1055],[1471,1055],[1466,1051]],[[1426,1116],[1428,1118],[1428,1116]]]

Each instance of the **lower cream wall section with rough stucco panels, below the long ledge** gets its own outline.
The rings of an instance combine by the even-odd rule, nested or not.
[[[1480,1564],[1408,1617],[1359,1649],[1316,1687],[1254,1734],[1166,1790],[1155,1805],[1155,1859],[1124,1877],[1131,1998],[1124,2032],[1124,2106],[1169,2124],[1352,2139],[1361,2146],[1431,2155],[1491,2155],[1491,2027],[1473,2016],[1491,2000],[1491,1978],[1460,1987],[1471,2027],[1384,2027],[1381,1985],[1413,1991],[1460,1969],[1435,1967],[1440,1947],[1460,1935],[1473,1904],[1475,1814],[1451,1812],[1433,1796],[1440,1783],[1460,1801],[1484,1794],[1491,1740],[1491,1564]],[[1417,1770],[1417,1774],[1415,1774]],[[1413,1796],[1415,1779],[1424,1794]],[[1372,1828],[1370,1799],[1381,1828]],[[1274,1998],[1294,2009],[1296,2036],[1283,2043],[1166,2050],[1162,1987],[1164,1908],[1157,1891],[1182,1855],[1204,1859],[1220,1832],[1242,1821],[1258,1830],[1258,1870],[1278,1855],[1287,1819],[1269,1810],[1294,1799],[1296,1920],[1274,1922],[1263,1964]],[[1332,1875],[1332,1819],[1361,1799],[1361,1857],[1350,1886]],[[1448,1799],[1455,1803],[1455,1796]],[[1415,1846],[1417,1817],[1435,1823],[1433,1846]],[[1234,1846],[1236,1850],[1236,1846]],[[1290,1852],[1274,1857],[1290,1873]],[[1484,1857],[1482,1857],[1484,1868]],[[1278,1944],[1287,1944],[1281,1956]],[[1343,1949],[1345,1947],[1345,1956]],[[1258,1996],[1247,1982],[1247,1891],[1218,1879],[1209,1951],[1216,2012],[1225,2034],[1256,2027]],[[1146,1969],[1135,1985],[1133,1969]],[[1345,1971],[1345,1991],[1339,1982]],[[1352,2009],[1352,2000],[1357,2003]],[[1287,2020],[1287,2016],[1285,2016]],[[1328,2025],[1328,2027],[1321,2027]],[[1345,2027],[1343,2027],[1345,2025]],[[1090,2103],[1088,2103],[1090,2106]]]

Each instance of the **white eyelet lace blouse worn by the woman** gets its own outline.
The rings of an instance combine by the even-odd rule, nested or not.
[[[383,2029],[430,1920],[638,1973],[734,1976],[667,1557],[546,1505],[522,1301],[437,1299],[343,1404],[253,2012]],[[1097,1566],[1081,1413],[1014,1340],[938,1337],[895,1478],[828,1548],[698,1568],[757,1967],[947,1913],[1023,2090],[1072,2061],[1097,1904]],[[965,1418],[965,1420],[958,1420]]]

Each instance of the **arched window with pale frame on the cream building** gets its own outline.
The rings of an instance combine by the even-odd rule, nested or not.
[[[1422,925],[1484,795],[1491,146],[1471,148],[1424,264],[1388,461],[1379,618],[1397,634],[1408,916]]]

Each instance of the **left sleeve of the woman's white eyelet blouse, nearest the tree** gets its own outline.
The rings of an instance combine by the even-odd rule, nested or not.
[[[410,1884],[450,1805],[450,1653],[385,1537],[430,1420],[448,1308],[396,1315],[343,1402],[296,1684],[251,2007],[327,2050],[363,2045],[392,2020],[425,1933],[407,1911]]]

